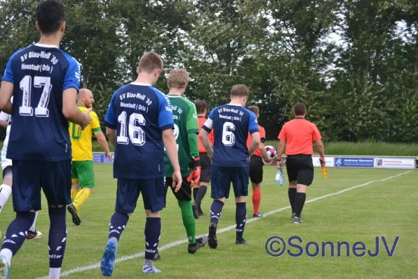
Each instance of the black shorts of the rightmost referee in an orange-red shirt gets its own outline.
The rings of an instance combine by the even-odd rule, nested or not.
[[[314,181],[314,163],[311,155],[297,154],[286,158],[286,170],[289,181],[309,186]]]

